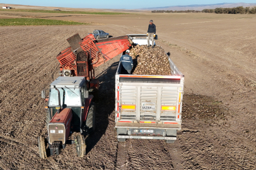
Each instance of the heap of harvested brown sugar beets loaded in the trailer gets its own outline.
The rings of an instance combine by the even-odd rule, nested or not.
[[[160,46],[151,48],[147,45],[136,45],[131,49],[130,55],[134,61],[132,74],[171,75],[168,56]]]

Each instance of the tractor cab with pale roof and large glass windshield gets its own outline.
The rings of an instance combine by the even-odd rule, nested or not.
[[[71,108],[73,129],[79,131],[84,113],[84,99],[88,98],[85,77],[58,77],[50,84],[48,112],[50,120],[60,110]]]

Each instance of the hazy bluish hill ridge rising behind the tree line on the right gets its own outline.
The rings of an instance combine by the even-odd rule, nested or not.
[[[154,7],[154,8],[142,8],[141,10],[202,10],[202,9],[215,9],[215,8],[234,8],[238,6],[256,6],[256,3],[220,3],[220,4],[192,4],[185,6],[164,6],[164,7]]]

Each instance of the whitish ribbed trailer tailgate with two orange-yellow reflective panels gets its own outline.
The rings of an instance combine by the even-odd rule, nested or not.
[[[183,76],[116,74],[115,81],[116,127],[181,128]]]

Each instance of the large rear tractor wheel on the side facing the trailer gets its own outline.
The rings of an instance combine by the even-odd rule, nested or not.
[[[95,131],[95,104],[93,102],[91,102],[85,125],[87,133],[93,133]]]

